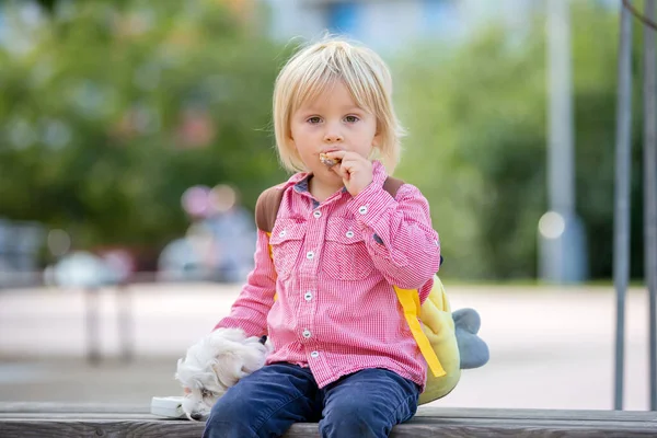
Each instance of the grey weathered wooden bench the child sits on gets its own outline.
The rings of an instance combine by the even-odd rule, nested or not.
[[[0,437],[189,437],[203,423],[163,419],[146,405],[0,403]],[[288,438],[319,437],[296,424]],[[657,437],[657,412],[488,410],[422,406],[391,437]]]

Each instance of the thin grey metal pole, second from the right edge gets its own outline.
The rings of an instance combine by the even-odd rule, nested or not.
[[[621,4],[615,138],[613,279],[616,291],[614,408],[623,408],[625,292],[630,276],[630,158],[632,152],[632,15]]]

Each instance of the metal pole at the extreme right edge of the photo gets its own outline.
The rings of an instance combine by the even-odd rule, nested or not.
[[[644,3],[646,19],[655,21],[655,0]],[[649,297],[649,370],[650,411],[657,411],[657,74],[655,37],[650,26],[644,28],[644,254]]]

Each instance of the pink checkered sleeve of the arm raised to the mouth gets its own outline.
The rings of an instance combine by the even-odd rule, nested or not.
[[[431,227],[429,203],[419,189],[404,184],[393,198],[370,184],[349,200],[374,266],[388,281],[417,289],[440,267],[440,241]],[[420,299],[426,297],[420,297]]]

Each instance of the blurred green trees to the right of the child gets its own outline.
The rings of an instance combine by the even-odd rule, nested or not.
[[[610,278],[618,11],[572,4],[576,208],[587,230],[590,274]],[[638,56],[638,41],[634,47]],[[546,209],[544,18],[537,18],[527,34],[488,28],[457,49],[418,46],[396,66],[396,100],[410,130],[397,174],[417,184],[430,201],[445,275],[535,277],[537,228]],[[638,66],[634,72],[641,74]],[[634,85],[641,87],[638,78]],[[638,276],[643,230],[636,100],[633,120],[632,274]]]

